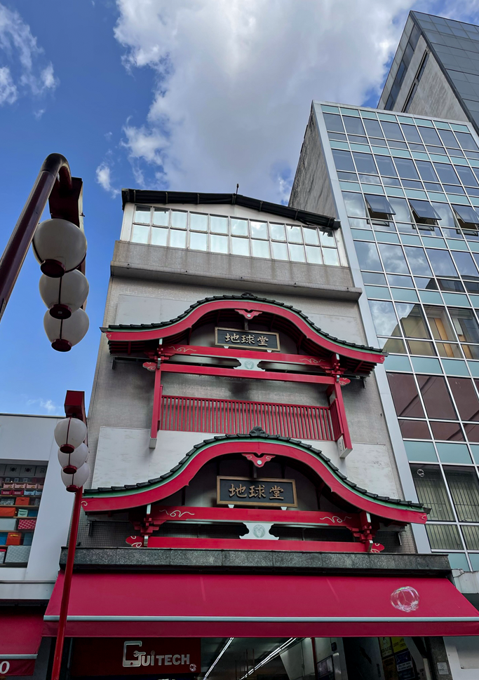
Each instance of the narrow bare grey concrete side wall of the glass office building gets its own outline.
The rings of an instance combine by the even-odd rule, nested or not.
[[[294,208],[301,206],[302,210],[319,212],[323,215],[338,216],[313,111],[311,111],[306,132],[304,132],[289,205]]]

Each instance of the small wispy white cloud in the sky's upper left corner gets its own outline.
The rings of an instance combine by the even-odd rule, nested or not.
[[[53,65],[46,63],[43,49],[37,45],[29,25],[18,12],[2,4],[0,51],[9,64],[0,69],[0,104],[13,104],[25,94],[41,97],[58,86]]]

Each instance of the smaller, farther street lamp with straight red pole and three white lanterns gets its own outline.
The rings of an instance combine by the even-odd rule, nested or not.
[[[76,540],[80,521],[81,497],[83,484],[90,475],[90,468],[86,463],[88,456],[85,400],[83,392],[67,391],[65,400],[65,414],[67,418],[57,423],[55,427],[55,441],[58,444],[58,460],[62,466],[62,482],[67,491],[75,494],[72,526],[67,550],[67,564],[63,580],[60,617],[58,620],[57,640],[53,655],[51,680],[59,680],[62,665],[63,644],[67,627],[68,603],[72,587],[73,564],[75,559]]]

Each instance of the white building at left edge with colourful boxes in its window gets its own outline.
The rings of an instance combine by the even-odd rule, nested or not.
[[[0,675],[45,678],[43,613],[68,538],[72,494],[60,479],[57,416],[0,414]]]

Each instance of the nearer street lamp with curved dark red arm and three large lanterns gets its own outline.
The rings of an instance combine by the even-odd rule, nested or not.
[[[60,352],[69,351],[88,330],[82,308],[88,295],[82,192],[83,182],[72,177],[65,156],[47,156],[0,259],[1,320],[33,243],[43,272],[40,294],[48,307],[43,326],[53,349]],[[39,224],[47,200],[52,219]]]

